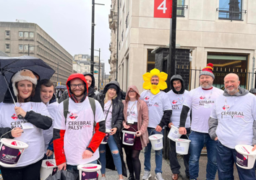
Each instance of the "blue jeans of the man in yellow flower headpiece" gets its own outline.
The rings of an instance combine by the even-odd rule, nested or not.
[[[152,133],[151,133],[152,132]],[[164,133],[164,130],[161,130],[162,134]],[[148,136],[155,135],[155,134],[161,134],[161,132],[155,131],[154,128],[148,127]],[[144,161],[144,170],[145,171],[150,171],[151,165],[150,165],[150,157],[151,157],[151,143],[148,143],[148,145],[145,147],[145,161]],[[161,150],[155,150],[155,174],[157,173],[162,173],[162,158],[163,158],[163,149]]]

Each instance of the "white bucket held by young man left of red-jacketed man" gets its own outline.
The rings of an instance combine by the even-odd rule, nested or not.
[[[48,176],[56,174],[58,171],[58,166],[56,166],[55,159],[46,159],[43,160],[42,166],[40,169],[40,179],[45,180]]]

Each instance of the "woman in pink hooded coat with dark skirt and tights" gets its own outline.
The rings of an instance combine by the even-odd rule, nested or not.
[[[148,106],[140,99],[136,86],[129,86],[124,103],[124,128],[127,131],[136,130],[134,145],[123,145],[127,155],[129,180],[140,180],[140,150],[147,146],[148,140]]]

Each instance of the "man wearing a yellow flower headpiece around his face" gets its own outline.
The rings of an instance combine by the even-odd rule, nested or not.
[[[165,76],[165,78],[163,78]],[[154,134],[163,134],[163,128],[164,126],[168,125],[170,118],[171,118],[171,104],[169,101],[166,101],[168,99],[168,96],[164,91],[160,91],[158,88],[159,84],[160,87],[163,87],[163,85],[166,85],[163,89],[167,88],[166,84],[166,78],[167,74],[163,73],[158,69],[153,69],[150,71],[150,73],[145,73],[143,75],[143,78],[149,81],[145,81],[143,84],[144,89],[148,89],[150,87],[150,90],[142,91],[142,94],[140,94],[140,99],[146,102],[148,104],[148,135],[154,135]],[[148,86],[150,84],[150,86]],[[162,89],[162,90],[163,90]],[[156,90],[156,91],[155,91]],[[151,143],[148,143],[148,145],[145,147],[145,161],[144,161],[144,175],[142,176],[142,179],[146,180],[149,179],[150,174],[150,153],[151,153],[152,145]],[[156,180],[163,180],[162,177],[162,152],[163,150],[155,150],[155,179]]]

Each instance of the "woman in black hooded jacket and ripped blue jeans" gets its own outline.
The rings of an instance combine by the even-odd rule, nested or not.
[[[100,145],[101,174],[103,180],[106,179],[106,167],[116,170],[119,174],[119,179],[123,179],[123,175],[127,176],[123,153],[121,149],[120,132],[123,121],[124,106],[121,103],[121,91],[117,81],[111,81],[103,90],[103,94],[96,96],[106,120],[106,130],[111,130],[107,144]]]

